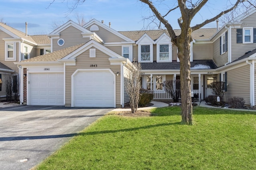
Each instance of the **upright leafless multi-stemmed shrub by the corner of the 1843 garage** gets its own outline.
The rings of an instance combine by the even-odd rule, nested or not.
[[[136,113],[138,109],[138,104],[140,101],[140,63],[134,63],[130,70],[130,74],[128,74],[125,88],[126,92],[130,98],[130,106],[132,109],[132,113]]]

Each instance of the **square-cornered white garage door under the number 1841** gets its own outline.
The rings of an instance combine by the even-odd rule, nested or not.
[[[29,105],[64,105],[63,73],[30,73],[28,86]]]

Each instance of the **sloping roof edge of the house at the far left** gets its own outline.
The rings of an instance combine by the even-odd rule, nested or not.
[[[26,33],[19,31],[18,29],[10,27],[1,22],[0,22],[0,30],[4,31],[5,33],[9,34],[14,38],[26,39],[28,41],[31,41],[32,43],[36,43],[30,35],[26,35]]]

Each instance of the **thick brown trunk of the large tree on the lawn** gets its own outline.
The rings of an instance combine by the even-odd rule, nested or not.
[[[183,34],[184,35],[184,34]],[[190,86],[190,32],[180,38],[178,58],[180,59],[180,88],[182,102],[182,124],[192,125],[192,99]],[[181,34],[182,36],[182,34]]]

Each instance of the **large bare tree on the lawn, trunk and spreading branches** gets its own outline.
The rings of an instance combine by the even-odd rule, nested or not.
[[[55,0],[52,0],[52,3]],[[67,1],[68,0],[63,0]],[[74,0],[74,5],[70,8],[72,12],[79,4],[84,3],[86,0]],[[178,58],[180,60],[180,84],[181,84],[181,101],[182,101],[182,124],[193,124],[192,118],[192,98],[191,98],[191,87],[190,87],[190,42],[192,41],[191,33],[197,29],[200,29],[204,25],[215,21],[224,14],[234,11],[236,8],[242,6],[245,8],[255,8],[254,0],[226,0],[230,5],[227,6],[227,9],[219,12],[216,16],[211,19],[204,20],[202,23],[199,23],[194,26],[191,25],[191,21],[194,16],[204,7],[207,6],[208,0],[174,0],[174,1],[165,1],[165,0],[155,0],[154,3],[150,0],[140,0],[143,4],[146,4],[150,10],[153,12],[153,16],[149,17],[152,19],[153,23],[158,23],[158,25],[163,24],[167,29],[172,43],[178,47]],[[176,4],[177,6],[173,6]],[[121,3],[121,2],[120,2]],[[156,4],[156,3],[159,3]],[[165,14],[161,14],[159,10],[162,10],[163,7],[170,9]],[[169,8],[169,6],[173,8]],[[172,23],[166,20],[167,16],[171,16],[172,12],[176,9],[180,10],[181,16],[178,18],[178,24],[180,26],[181,32],[180,35],[176,35],[172,27]]]

